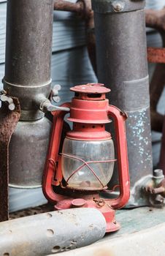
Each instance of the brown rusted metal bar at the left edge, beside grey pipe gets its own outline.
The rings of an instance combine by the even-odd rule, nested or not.
[[[9,141],[20,118],[20,104],[12,97],[15,110],[9,110],[6,103],[0,109],[0,221],[9,218],[8,185],[9,185]]]

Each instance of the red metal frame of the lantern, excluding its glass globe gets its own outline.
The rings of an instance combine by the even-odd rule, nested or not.
[[[75,93],[72,102],[62,105],[62,107],[70,109],[70,116],[67,119],[74,123],[72,131],[67,132],[66,138],[86,141],[110,140],[111,135],[110,132],[105,130],[105,124],[110,123],[109,117],[112,117],[115,121],[119,176],[119,184],[115,188],[119,187],[120,195],[115,199],[101,198],[99,196],[99,190],[105,192],[107,191],[107,187],[104,187],[104,184],[101,183],[101,180],[96,175],[95,170],[90,166],[91,163],[115,162],[116,159],[85,162],[83,159],[70,154],[58,154],[64,116],[67,113],[63,110],[52,112],[53,129],[47,152],[42,189],[47,200],[55,204],[56,210],[75,207],[97,208],[106,219],[107,232],[112,232],[120,228],[118,222],[115,221],[115,209],[125,206],[130,195],[125,129],[126,113],[123,113],[113,105],[109,105],[109,100],[106,99],[105,94],[110,89],[104,87],[103,84],[88,83],[87,85],[74,86],[71,88],[71,91]],[[73,170],[72,175],[65,182],[61,170],[62,156],[80,161],[80,167]],[[93,173],[93,176],[100,182],[101,189],[85,191],[68,186],[69,179],[75,173],[82,170],[84,166],[88,167],[91,173]],[[60,187],[60,190],[55,189],[55,187]],[[58,192],[55,190],[58,190]]]

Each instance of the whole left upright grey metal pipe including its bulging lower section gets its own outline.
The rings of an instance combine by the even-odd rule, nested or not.
[[[53,0],[7,1],[4,89],[20,101],[21,116],[9,145],[9,183],[41,187],[51,123],[39,110],[50,94]]]

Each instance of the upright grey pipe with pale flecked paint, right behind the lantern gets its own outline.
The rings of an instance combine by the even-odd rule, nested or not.
[[[110,103],[128,113],[126,133],[131,178],[128,206],[143,206],[142,182],[152,173],[150,97],[145,35],[145,1],[92,0],[97,71],[110,86]],[[114,173],[111,186],[118,184]]]

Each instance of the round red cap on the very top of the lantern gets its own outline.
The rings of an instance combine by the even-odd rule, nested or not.
[[[85,85],[74,86],[70,90],[83,94],[107,94],[107,92],[111,91],[103,83],[87,83]]]

